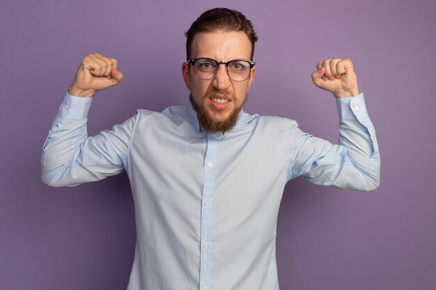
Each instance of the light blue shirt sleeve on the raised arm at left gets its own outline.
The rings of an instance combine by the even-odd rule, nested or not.
[[[50,186],[76,186],[116,175],[125,168],[137,115],[111,130],[88,137],[92,98],[68,92],[42,147],[41,179]]]

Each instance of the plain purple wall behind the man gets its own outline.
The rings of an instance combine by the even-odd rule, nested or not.
[[[139,107],[185,104],[183,33],[215,6],[241,10],[260,37],[246,111],[294,118],[336,142],[334,99],[310,74],[323,58],[349,57],[377,129],[377,191],[304,179],[286,187],[281,289],[436,289],[434,0],[2,0],[0,289],[126,288],[135,243],[126,176],[49,188],[39,179],[42,143],[92,52],[118,58],[125,79],[95,97],[90,134]]]

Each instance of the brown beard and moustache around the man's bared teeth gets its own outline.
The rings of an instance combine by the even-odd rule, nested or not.
[[[215,93],[215,92],[231,96],[232,97],[231,102],[235,102],[235,104],[236,104],[236,106],[233,109],[233,111],[231,112],[231,114],[224,121],[214,120],[214,118],[212,118],[212,116],[205,109],[204,103],[206,102],[206,100],[209,99],[208,96],[210,94]],[[245,101],[247,100],[247,96],[245,97],[244,102],[240,106],[238,106],[238,103],[237,103],[238,101],[237,101],[234,94],[228,93],[228,92],[221,92],[221,91],[213,88],[212,90],[208,90],[208,92],[205,92],[205,95],[203,96],[201,104],[197,104],[194,101],[192,94],[189,95],[189,100],[191,101],[191,104],[194,107],[194,110],[197,112],[198,123],[200,124],[201,127],[203,127],[203,129],[205,129],[209,133],[217,133],[217,132],[224,133],[226,131],[230,131],[231,129],[233,129],[233,127],[235,127],[236,122],[238,122],[238,115],[239,115],[240,111],[242,110],[242,107],[244,106]]]

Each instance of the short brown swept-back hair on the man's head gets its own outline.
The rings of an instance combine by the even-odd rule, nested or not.
[[[216,31],[218,29],[224,29],[225,31],[244,31],[251,42],[250,60],[253,61],[254,43],[258,40],[253,24],[239,11],[228,8],[213,8],[207,10],[191,24],[191,27],[185,32],[187,38],[186,58],[189,59],[191,56],[192,40],[197,33]]]

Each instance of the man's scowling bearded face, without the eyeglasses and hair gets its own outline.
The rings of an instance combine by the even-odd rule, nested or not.
[[[242,31],[213,31],[198,33],[192,40],[191,58],[212,58],[227,61],[250,60],[251,42]],[[212,79],[198,79],[194,67],[183,63],[183,79],[191,91],[198,120],[208,131],[228,131],[238,119],[245,97],[253,81],[255,68],[246,81],[233,81],[226,66],[219,65]]]

